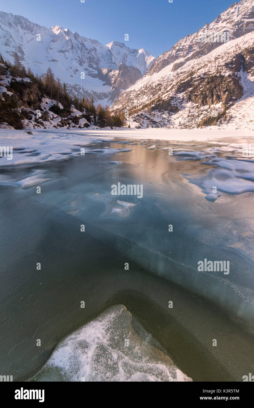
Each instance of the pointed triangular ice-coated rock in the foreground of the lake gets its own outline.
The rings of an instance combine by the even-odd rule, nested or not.
[[[66,337],[34,381],[192,381],[125,306]]]

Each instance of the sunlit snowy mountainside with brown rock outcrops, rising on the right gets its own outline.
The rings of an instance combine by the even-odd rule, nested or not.
[[[241,0],[160,55],[111,109],[128,109],[131,127],[253,129],[253,104],[254,1]]]

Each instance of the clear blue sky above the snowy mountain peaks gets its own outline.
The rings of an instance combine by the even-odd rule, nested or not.
[[[155,57],[212,22],[234,0],[0,0],[0,11],[46,27],[60,25],[98,40],[124,42]],[[124,35],[129,41],[124,41]]]

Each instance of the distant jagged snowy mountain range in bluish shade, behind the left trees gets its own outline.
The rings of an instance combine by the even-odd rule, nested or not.
[[[15,51],[34,74],[43,75],[51,67],[72,95],[93,96],[102,104],[112,103],[155,59],[144,49],[130,49],[121,42],[102,45],[57,25],[46,28],[0,12],[0,52],[13,63]]]

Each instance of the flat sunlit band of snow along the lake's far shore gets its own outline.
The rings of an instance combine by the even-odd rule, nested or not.
[[[109,141],[114,137],[139,140],[168,140],[168,141],[212,141],[224,138],[235,139],[237,143],[250,143],[254,140],[251,130],[221,130],[221,129],[86,129],[86,130],[58,130],[32,129],[32,135],[24,130],[0,129],[0,146],[35,146],[47,145],[48,153],[55,153],[55,146],[70,149],[76,144],[89,144],[100,140]],[[55,140],[56,139],[56,140]],[[100,141],[99,140],[99,141]]]

